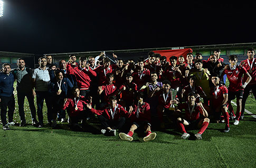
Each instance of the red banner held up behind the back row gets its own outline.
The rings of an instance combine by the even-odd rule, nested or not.
[[[191,48],[154,51],[154,53],[159,53],[161,56],[166,56],[167,61],[169,61],[169,58],[172,56],[176,56],[176,57],[183,56],[186,61],[187,53],[192,53],[192,52],[193,50]]]

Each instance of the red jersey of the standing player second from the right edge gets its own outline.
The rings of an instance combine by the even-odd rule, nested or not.
[[[244,67],[236,65],[235,69],[224,69],[222,72],[222,76],[226,74],[227,79],[229,79],[230,85],[229,90],[230,91],[238,91],[241,90],[242,86],[242,77],[244,74],[247,73],[247,70]]]

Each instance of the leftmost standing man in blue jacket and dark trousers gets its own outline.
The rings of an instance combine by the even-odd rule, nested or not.
[[[0,109],[3,130],[10,130],[8,125],[14,125],[13,113],[15,109],[15,99],[13,95],[14,76],[11,73],[11,65],[4,63],[2,71],[0,71]],[[6,113],[8,107],[8,123],[6,121]]]

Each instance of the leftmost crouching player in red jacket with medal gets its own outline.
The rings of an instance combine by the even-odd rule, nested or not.
[[[69,108],[69,123],[71,124],[72,129],[78,128],[79,120],[82,120],[82,124],[86,121],[87,111],[84,110],[84,105],[88,104],[89,101],[86,100],[84,96],[80,96],[80,90],[77,86],[72,88],[73,98],[68,98],[64,103],[62,110]],[[81,127],[79,127],[80,129]]]

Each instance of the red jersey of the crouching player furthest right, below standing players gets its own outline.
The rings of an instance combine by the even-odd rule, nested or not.
[[[220,85],[218,87],[212,87],[211,88],[211,93],[212,93],[212,102],[213,102],[213,107],[218,107],[221,105],[222,101],[224,100],[223,95],[227,94],[227,88],[225,85]],[[215,95],[217,93],[217,95]]]

